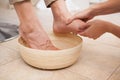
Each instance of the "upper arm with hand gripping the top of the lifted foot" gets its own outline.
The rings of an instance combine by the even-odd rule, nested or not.
[[[105,15],[116,12],[120,12],[120,0],[109,0],[106,2],[92,5],[88,9],[85,9],[84,11],[77,12],[67,20],[66,24],[71,23],[75,19],[88,21],[98,15]]]

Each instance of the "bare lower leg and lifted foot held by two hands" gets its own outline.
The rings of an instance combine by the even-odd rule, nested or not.
[[[71,16],[64,0],[57,0],[52,5],[52,13],[54,16],[53,30],[55,33],[79,33],[85,28],[86,23],[77,19],[66,24],[67,19]]]

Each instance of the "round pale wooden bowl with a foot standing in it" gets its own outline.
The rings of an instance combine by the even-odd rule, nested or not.
[[[37,50],[27,47],[19,38],[22,58],[31,66],[42,69],[61,69],[74,64],[80,56],[82,39],[77,35],[48,34],[52,43],[61,50]]]

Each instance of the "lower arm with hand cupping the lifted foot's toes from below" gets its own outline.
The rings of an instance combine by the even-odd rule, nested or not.
[[[104,33],[112,33],[120,38],[120,26],[103,20],[88,21],[89,25],[84,31],[80,32],[81,36],[97,39]]]

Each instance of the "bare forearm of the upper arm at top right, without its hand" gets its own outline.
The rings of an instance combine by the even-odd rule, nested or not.
[[[109,0],[93,5],[89,9],[94,16],[120,12],[120,0]]]

